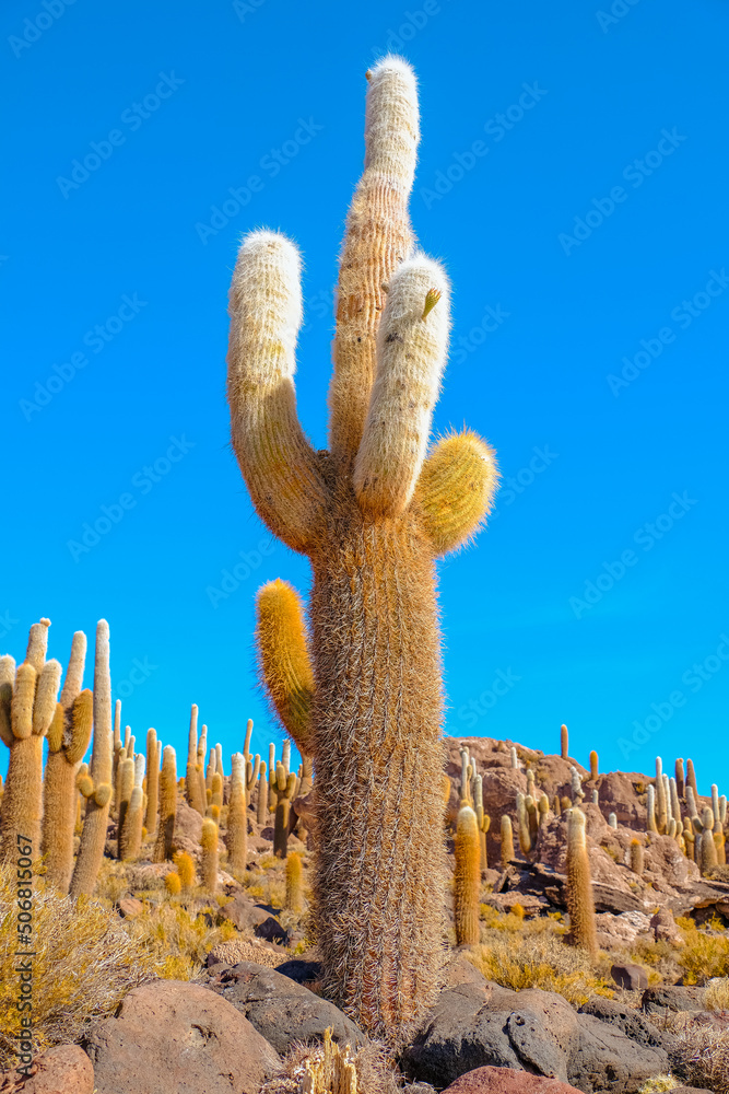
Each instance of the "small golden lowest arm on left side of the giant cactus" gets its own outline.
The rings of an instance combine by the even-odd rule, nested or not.
[[[298,593],[277,578],[256,597],[256,642],[261,682],[283,728],[309,755],[314,670]]]

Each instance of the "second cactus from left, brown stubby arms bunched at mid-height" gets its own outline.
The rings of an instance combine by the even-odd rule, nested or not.
[[[77,775],[91,741],[93,695],[81,690],[86,636],[78,630],[71,642],[60,701],[50,724],[48,759],[43,782],[43,852],[46,883],[67,894],[73,872],[73,829],[79,792]]]

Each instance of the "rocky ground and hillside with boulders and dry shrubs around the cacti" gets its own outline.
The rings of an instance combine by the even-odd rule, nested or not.
[[[462,743],[447,740],[451,819]],[[66,1031],[64,1037],[48,1034],[52,1047],[31,1076],[0,1075],[0,1094],[293,1094],[304,1089],[302,1044],[321,1043],[327,1028],[336,1044],[351,1046],[365,1094],[395,1094],[398,1086],[412,1094],[657,1094],[683,1083],[729,1094],[722,869],[701,877],[673,839],[648,836],[646,776],[601,775],[591,783],[576,765],[588,799],[593,789],[599,798],[585,805],[601,947],[592,961],[568,944],[563,817],[548,818],[528,857],[517,849],[501,864],[498,822],[506,813],[514,818],[516,792],[526,793],[525,764],[552,798],[568,793],[573,761],[519,747],[521,767],[514,769],[510,742],[465,743],[492,817],[481,940],[459,950],[448,928],[445,986],[397,1059],[322,998],[308,911],[283,908],[284,865],[271,853],[273,831],[259,827],[251,812],[247,870],[228,872],[223,853],[213,899],[199,889],[169,896],[164,877],[172,863],[109,859],[94,913],[138,946],[139,962],[154,951],[166,954],[167,964],[156,976],[142,970],[137,984],[130,970],[129,982],[120,980],[95,1013],[89,1005],[84,1011],[83,991],[69,989],[73,1003],[58,1005],[77,1006],[79,1021],[63,1026],[51,1014],[48,1031]],[[607,822],[611,812],[618,828]],[[303,819],[305,807],[301,813]],[[175,843],[198,864],[201,826],[180,801]],[[111,826],[109,852],[114,837]],[[645,845],[640,877],[627,864],[635,838]],[[306,877],[306,842],[292,835],[290,849],[302,854]],[[452,868],[452,847],[449,862]],[[450,893],[448,916],[449,906]],[[84,936],[79,928],[80,951]],[[52,940],[48,947],[52,956]],[[47,975],[52,985],[52,965]],[[93,965],[86,975],[91,996]],[[108,980],[119,970],[104,975]]]

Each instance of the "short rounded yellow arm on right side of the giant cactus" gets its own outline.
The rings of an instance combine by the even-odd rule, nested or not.
[[[484,524],[498,485],[493,450],[466,430],[435,445],[418,482],[423,524],[433,549],[446,555]]]

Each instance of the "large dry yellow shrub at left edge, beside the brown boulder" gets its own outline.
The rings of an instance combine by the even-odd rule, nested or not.
[[[164,975],[165,956],[95,899],[36,882],[33,901],[33,1026],[38,1050],[78,1039],[87,1022],[111,1013],[137,985]],[[15,1060],[20,1013],[15,871],[0,871],[0,1070]]]

